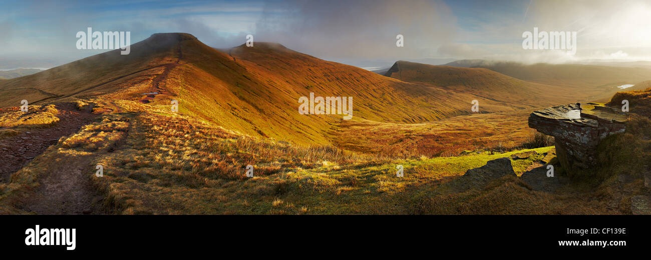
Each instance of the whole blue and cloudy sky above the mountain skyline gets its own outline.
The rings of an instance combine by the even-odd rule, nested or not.
[[[191,33],[215,48],[253,35],[367,67],[422,59],[651,61],[649,14],[648,0],[0,0],[0,69],[49,68],[103,52],[77,50],[76,33],[87,27],[130,31],[132,43]],[[523,33],[534,27],[576,32],[576,52],[523,49]]]

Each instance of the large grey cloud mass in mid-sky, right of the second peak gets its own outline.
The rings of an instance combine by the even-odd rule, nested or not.
[[[434,54],[455,26],[442,1],[270,1],[256,23],[255,39],[317,57],[401,59]]]

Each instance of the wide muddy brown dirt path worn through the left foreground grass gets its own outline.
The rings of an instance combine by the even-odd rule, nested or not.
[[[10,176],[29,164],[33,158],[42,154],[60,137],[79,131],[82,126],[92,123],[96,115],[92,108],[78,111],[74,104],[56,104],[59,122],[49,128],[36,128],[22,132],[18,136],[0,139],[0,181],[10,181]],[[84,158],[89,157],[89,158]],[[21,208],[36,214],[101,214],[98,201],[102,197],[92,187],[87,169],[89,156],[65,155],[57,158],[57,163],[40,173],[40,186],[33,197],[21,203]]]

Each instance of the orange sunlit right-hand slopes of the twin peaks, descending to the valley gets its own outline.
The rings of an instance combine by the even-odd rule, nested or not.
[[[342,115],[301,115],[301,96],[353,98],[353,121],[422,123],[471,113],[478,97],[430,84],[408,83],[354,66],[317,59],[280,44],[255,42],[215,50],[198,40],[182,43],[182,66],[168,88],[181,111],[253,136],[326,145]],[[486,102],[488,111],[513,108]]]

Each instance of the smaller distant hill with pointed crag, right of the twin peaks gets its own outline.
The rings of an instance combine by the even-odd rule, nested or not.
[[[514,108],[536,108],[581,98],[566,87],[531,83],[486,68],[434,66],[397,61],[385,74],[409,82],[429,83],[450,91],[471,93]],[[479,100],[479,99],[478,99]],[[480,100],[480,104],[481,104]]]

